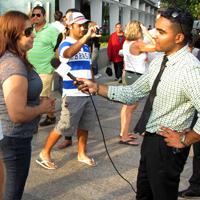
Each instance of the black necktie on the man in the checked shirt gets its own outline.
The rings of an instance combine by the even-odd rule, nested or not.
[[[145,107],[144,107],[144,110],[142,112],[142,115],[137,123],[137,125],[135,126],[134,128],[134,132],[137,133],[139,132],[140,134],[142,134],[145,130],[146,130],[146,124],[148,122],[148,119],[149,119],[149,116],[151,114],[151,110],[152,110],[152,105],[153,105],[153,101],[154,101],[154,98],[156,96],[156,88],[158,86],[158,83],[160,81],[160,78],[162,76],[162,73],[166,67],[166,62],[168,61],[167,59],[167,56],[165,55],[164,58],[163,58],[163,61],[162,61],[162,64],[161,64],[161,67],[160,67],[160,71],[153,83],[153,86],[151,88],[151,91],[150,91],[150,94],[149,94],[149,97],[147,99],[147,102],[145,104]]]

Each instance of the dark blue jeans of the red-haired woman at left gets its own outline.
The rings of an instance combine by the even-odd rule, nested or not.
[[[31,138],[7,137],[0,141],[6,168],[6,186],[3,200],[20,200],[29,172]]]

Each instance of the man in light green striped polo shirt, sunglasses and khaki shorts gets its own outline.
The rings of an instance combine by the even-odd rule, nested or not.
[[[36,6],[32,11],[32,17],[35,24],[33,32],[33,48],[28,51],[28,60],[35,67],[43,83],[43,90],[40,99],[49,98],[51,95],[52,81],[55,76],[55,70],[51,66],[51,59],[55,57],[55,45],[59,31],[54,26],[46,22],[46,12],[41,6]],[[40,123],[40,126],[54,124],[56,117],[53,113],[48,113],[46,119]]]

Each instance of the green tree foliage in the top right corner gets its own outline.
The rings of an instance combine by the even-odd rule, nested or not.
[[[165,8],[169,6],[185,8],[193,15],[194,19],[198,19],[200,14],[199,0],[161,0],[160,5]]]

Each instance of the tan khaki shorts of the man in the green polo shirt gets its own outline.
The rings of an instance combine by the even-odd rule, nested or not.
[[[42,84],[43,84],[43,89],[42,89],[42,92],[40,93],[40,97],[50,97],[52,81],[53,81],[55,75],[56,75],[56,73],[39,74],[39,76],[42,80]]]

